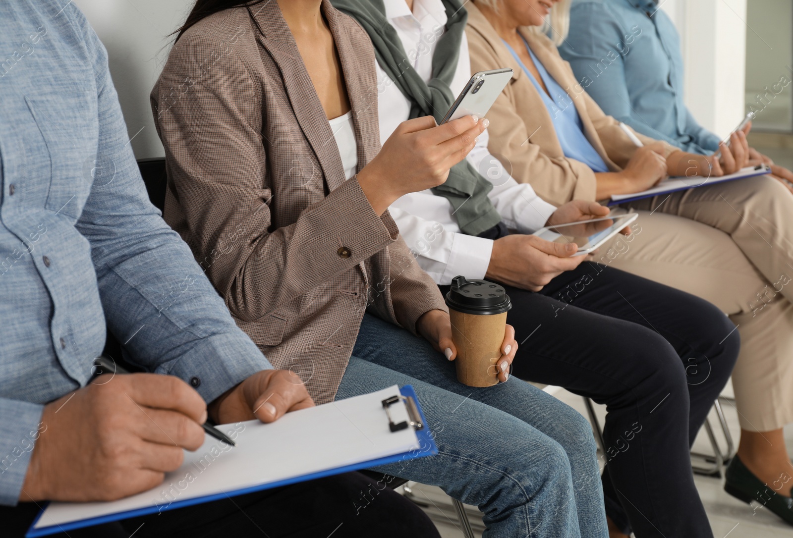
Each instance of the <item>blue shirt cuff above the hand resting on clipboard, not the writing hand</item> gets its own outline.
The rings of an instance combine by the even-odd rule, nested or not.
[[[206,403],[262,370],[272,370],[270,361],[250,338],[239,330],[202,338],[189,352],[170,366],[167,373],[194,387]]]

